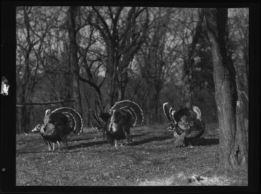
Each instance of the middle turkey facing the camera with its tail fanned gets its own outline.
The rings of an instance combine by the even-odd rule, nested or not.
[[[115,147],[119,140],[123,144],[123,139],[127,139],[126,145],[132,144],[130,128],[136,124],[142,125],[144,119],[139,105],[130,100],[117,102],[108,113],[98,115],[91,110],[90,113],[96,121],[93,128],[106,133],[107,142]]]

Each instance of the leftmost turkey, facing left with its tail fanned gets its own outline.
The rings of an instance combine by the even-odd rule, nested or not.
[[[32,131],[39,131],[43,137],[45,146],[50,151],[55,149],[55,143],[58,144],[60,150],[60,142],[64,142],[66,148],[67,136],[73,132],[78,133],[83,128],[83,120],[79,113],[75,110],[62,107],[51,112],[46,110],[42,123],[38,124]]]

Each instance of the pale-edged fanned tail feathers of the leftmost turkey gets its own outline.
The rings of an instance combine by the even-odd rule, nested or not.
[[[63,113],[66,116],[70,117],[73,120],[73,130],[74,133],[80,133],[83,129],[83,119],[79,113],[77,113],[74,109],[69,107],[62,107],[59,109],[55,109],[52,113]]]

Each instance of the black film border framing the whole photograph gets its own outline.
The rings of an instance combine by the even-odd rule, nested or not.
[[[259,191],[259,70],[260,3],[182,1],[1,1],[1,77],[10,83],[9,96],[1,96],[1,193],[258,193]],[[249,169],[248,186],[16,186],[16,6],[147,6],[249,7]]]

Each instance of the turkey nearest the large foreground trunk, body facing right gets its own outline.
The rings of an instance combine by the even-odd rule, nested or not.
[[[202,121],[201,111],[197,106],[192,110],[182,108],[174,111],[168,103],[163,104],[163,110],[172,124],[167,128],[174,130],[174,146],[193,147],[193,144],[205,131],[205,123]]]

